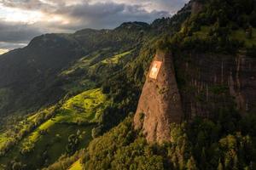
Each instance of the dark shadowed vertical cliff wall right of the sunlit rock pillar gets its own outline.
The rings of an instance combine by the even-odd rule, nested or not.
[[[187,120],[235,108],[256,111],[256,59],[244,54],[183,54],[176,59]]]

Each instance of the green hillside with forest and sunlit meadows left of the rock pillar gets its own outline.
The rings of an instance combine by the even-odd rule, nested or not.
[[[119,118],[107,121],[118,109],[108,88],[101,87],[136,58],[147,30],[148,24],[135,22],[111,31],[44,35],[3,54],[0,162],[47,166],[124,118],[125,113],[116,113]],[[26,162],[27,157],[33,161]]]

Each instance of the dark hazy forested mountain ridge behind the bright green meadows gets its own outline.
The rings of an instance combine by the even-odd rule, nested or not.
[[[32,39],[26,48],[3,54],[0,92],[4,95],[0,114],[37,111],[44,105],[56,103],[69,92],[63,87],[67,77],[61,77],[61,71],[82,58],[90,58],[93,65],[114,54],[130,51],[137,47],[147,29],[145,23],[127,23],[113,31],[85,29],[74,34],[46,34]]]

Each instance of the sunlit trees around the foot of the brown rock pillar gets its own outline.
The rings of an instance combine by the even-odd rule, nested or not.
[[[236,111],[217,115],[172,124],[172,139],[165,144],[147,144],[129,116],[90,143],[84,169],[255,169],[256,116]]]

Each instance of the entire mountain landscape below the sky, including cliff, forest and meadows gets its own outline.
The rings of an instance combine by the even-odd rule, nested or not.
[[[192,0],[1,55],[1,167],[255,169],[255,16]]]

